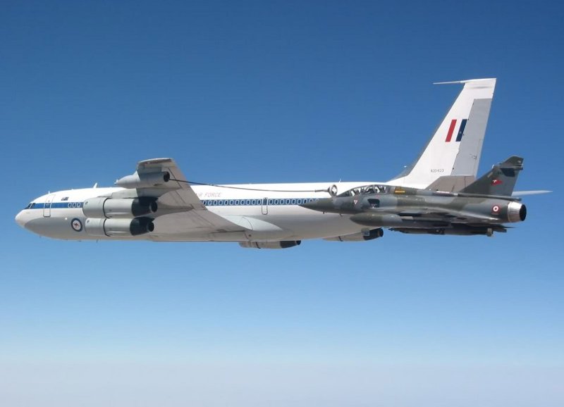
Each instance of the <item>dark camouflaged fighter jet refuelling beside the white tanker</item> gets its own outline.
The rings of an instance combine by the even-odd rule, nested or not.
[[[527,207],[513,196],[522,169],[523,158],[511,156],[458,192],[436,189],[448,184],[441,179],[427,189],[371,184],[301,206],[349,215],[366,227],[367,240],[381,237],[383,227],[403,233],[492,236],[507,232],[504,223],[527,217]]]

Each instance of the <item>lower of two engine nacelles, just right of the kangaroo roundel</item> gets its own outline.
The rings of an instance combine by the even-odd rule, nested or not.
[[[151,218],[135,219],[100,219],[87,218],[85,232],[91,236],[138,236],[152,232],[154,223]]]

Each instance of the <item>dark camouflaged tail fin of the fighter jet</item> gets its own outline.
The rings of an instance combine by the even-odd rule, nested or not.
[[[489,172],[480,177],[460,192],[467,194],[484,194],[484,195],[499,195],[511,196],[517,176],[520,170],[523,169],[523,158],[511,156],[503,163],[494,165]]]

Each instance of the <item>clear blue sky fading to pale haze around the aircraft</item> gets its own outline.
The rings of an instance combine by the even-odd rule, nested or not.
[[[0,405],[562,406],[558,1],[17,1],[0,13]],[[173,157],[210,183],[386,181],[497,77],[479,173],[524,223],[286,250],[64,242],[14,216]],[[556,210],[555,210],[556,209]]]

